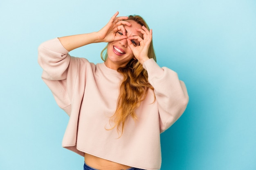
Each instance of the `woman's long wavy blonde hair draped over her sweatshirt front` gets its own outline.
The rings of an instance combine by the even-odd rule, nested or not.
[[[127,20],[133,20],[150,30],[145,20],[139,15],[130,15]],[[108,57],[107,47],[108,45],[101,51],[101,59],[103,61],[106,61]],[[151,41],[148,49],[148,57],[156,61],[153,41]],[[147,71],[138,60],[131,59],[125,67],[118,68],[117,72],[123,75],[123,80],[117,99],[117,109],[110,119],[110,121],[114,121],[115,125],[107,130],[112,130],[116,127],[117,132],[119,133],[121,131],[122,135],[126,120],[130,117],[137,120],[135,109],[139,107],[140,102],[146,97],[148,89],[153,89],[153,87],[148,83]],[[119,133],[119,137],[121,137],[121,135]]]

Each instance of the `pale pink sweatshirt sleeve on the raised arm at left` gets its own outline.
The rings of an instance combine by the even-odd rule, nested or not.
[[[74,92],[83,94],[81,85],[85,84],[85,72],[79,74],[79,71],[90,64],[84,58],[71,57],[68,52],[58,38],[45,41],[38,47],[42,79],[52,91],[58,106],[70,116]]]

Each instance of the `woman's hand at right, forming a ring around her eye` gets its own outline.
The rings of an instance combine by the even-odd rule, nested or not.
[[[127,39],[127,42],[135,58],[143,65],[143,63],[149,59],[148,49],[152,41],[152,29],[148,31],[145,26],[142,26],[142,29],[136,28],[136,30],[143,34],[143,39],[139,36],[132,36]],[[139,46],[134,46],[131,41],[132,39],[137,39]]]

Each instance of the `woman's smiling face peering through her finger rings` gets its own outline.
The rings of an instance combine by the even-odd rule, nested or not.
[[[139,36],[143,38],[142,33],[139,31],[136,31],[136,28],[142,28],[140,24],[133,20],[126,20],[131,26],[124,25],[124,28],[126,29],[126,36],[132,37],[132,36]],[[117,36],[122,35],[122,31],[118,31]],[[134,46],[139,46],[139,41],[137,40],[131,40],[132,44]],[[105,61],[105,65],[108,68],[117,70],[117,68],[121,66],[125,66],[132,58],[134,58],[134,55],[132,53],[132,50],[127,44],[127,39],[122,39],[118,41],[112,41],[108,43],[108,57]]]

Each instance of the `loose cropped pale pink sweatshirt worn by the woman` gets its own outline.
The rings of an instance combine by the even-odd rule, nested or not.
[[[176,72],[160,68],[153,59],[144,63],[154,91],[150,89],[136,109],[137,121],[129,118],[118,138],[116,129],[106,129],[116,110],[121,74],[68,52],[58,38],[38,48],[43,81],[70,116],[62,146],[81,156],[88,153],[135,168],[160,169],[160,133],[182,115],[189,99]]]

